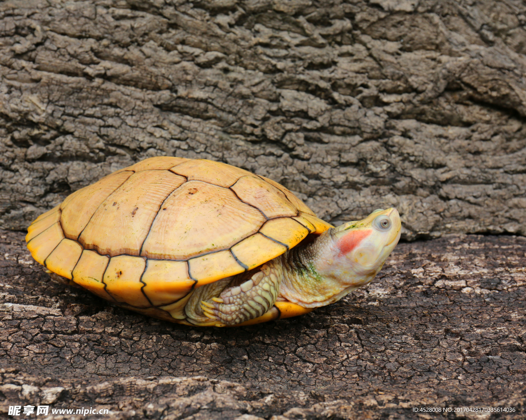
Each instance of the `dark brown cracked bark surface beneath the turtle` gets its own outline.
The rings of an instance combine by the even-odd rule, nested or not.
[[[3,230],[0,253],[0,413],[49,404],[123,419],[444,418],[412,413],[422,405],[515,407],[447,418],[526,414],[524,237],[402,243],[373,283],[335,304],[224,329],[158,321],[56,283],[22,233]]]

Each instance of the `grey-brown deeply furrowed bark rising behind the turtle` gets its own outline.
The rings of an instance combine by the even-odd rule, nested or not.
[[[269,176],[338,223],[526,234],[518,1],[0,4],[0,224],[156,154]]]

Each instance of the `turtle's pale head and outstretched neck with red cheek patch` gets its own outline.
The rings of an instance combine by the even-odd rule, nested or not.
[[[336,302],[369,283],[400,239],[396,208],[378,209],[363,220],[333,227],[287,258],[280,296],[303,308]],[[307,269],[308,268],[308,269]]]

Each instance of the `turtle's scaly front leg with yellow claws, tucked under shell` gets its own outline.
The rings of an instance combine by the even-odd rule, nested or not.
[[[282,269],[271,261],[239,286],[227,287],[219,297],[201,301],[204,314],[224,325],[236,325],[268,312],[276,302]]]

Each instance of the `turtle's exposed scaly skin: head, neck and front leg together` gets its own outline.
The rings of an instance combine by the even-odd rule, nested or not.
[[[377,275],[397,245],[400,230],[395,208],[331,228],[312,243],[300,244],[267,261],[261,271],[239,286],[236,283],[246,275],[224,279],[222,284],[228,284],[219,295],[205,289],[212,286],[203,286],[200,296],[208,299],[187,314],[192,317],[190,313],[196,313],[196,321],[206,316],[221,325],[235,325],[260,317],[276,300],[304,308],[336,302]],[[196,306],[197,299],[193,302]]]

